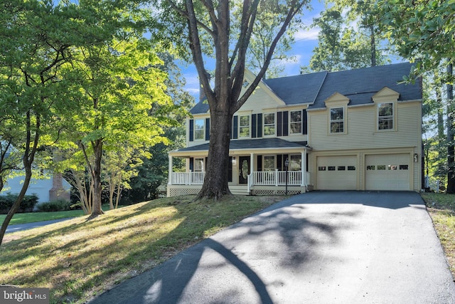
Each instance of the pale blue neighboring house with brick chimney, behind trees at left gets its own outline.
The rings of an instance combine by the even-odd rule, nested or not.
[[[1,194],[18,194],[21,192],[25,177],[19,176],[6,180]],[[26,195],[36,194],[38,203],[55,201],[58,199],[70,200],[71,185],[62,177],[62,174],[46,176],[43,179],[31,179]]]

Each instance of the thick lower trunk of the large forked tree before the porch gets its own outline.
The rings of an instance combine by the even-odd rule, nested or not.
[[[220,199],[230,194],[228,187],[229,143],[232,114],[229,111],[210,112],[210,144],[205,179],[198,199]]]

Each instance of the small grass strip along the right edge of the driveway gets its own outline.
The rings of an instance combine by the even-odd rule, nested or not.
[[[422,198],[455,277],[455,194],[423,193]]]

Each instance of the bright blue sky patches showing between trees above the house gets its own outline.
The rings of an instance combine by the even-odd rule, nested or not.
[[[312,0],[311,11],[305,11],[303,21],[306,26],[313,23],[313,19],[321,13],[324,9],[323,1]],[[300,73],[301,65],[309,65],[310,58],[312,56],[314,48],[318,45],[318,33],[319,28],[304,29],[296,33],[295,43],[289,56],[295,56],[296,62],[284,62],[286,76],[298,75]],[[198,73],[193,64],[188,65],[186,68],[182,68],[183,77],[186,78],[185,89],[188,90],[191,95],[195,96],[196,101],[199,95],[199,80]]]

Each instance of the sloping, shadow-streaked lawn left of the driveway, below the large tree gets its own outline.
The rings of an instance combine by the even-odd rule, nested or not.
[[[86,303],[284,197],[193,199],[156,199],[107,211],[90,221],[80,216],[6,234],[0,283],[50,288],[50,303]]]

